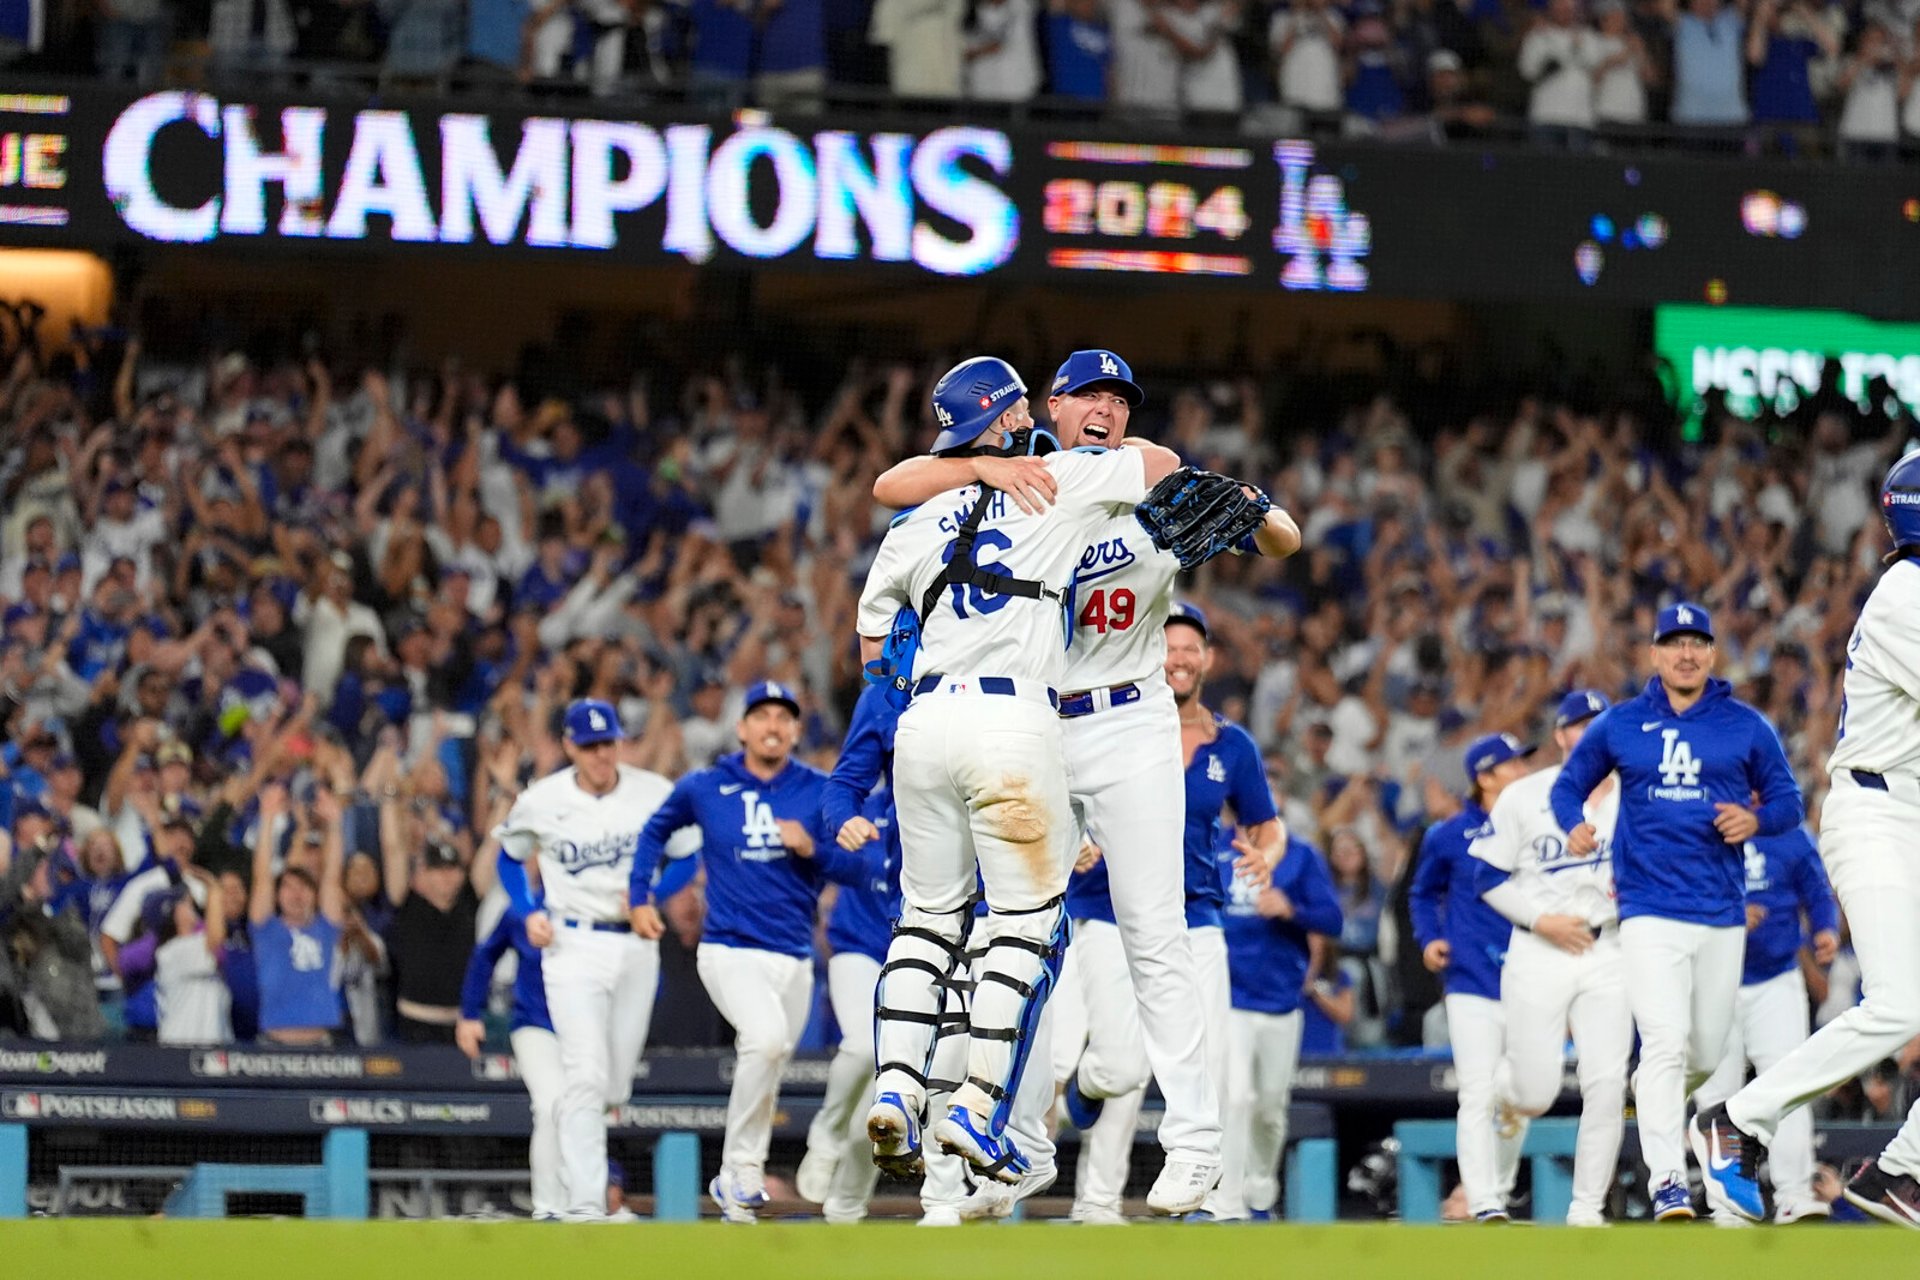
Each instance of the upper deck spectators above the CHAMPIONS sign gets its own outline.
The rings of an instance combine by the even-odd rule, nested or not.
[[[1907,0],[0,0],[10,59],[140,84],[522,83],[1574,150],[1878,161],[1920,138]]]

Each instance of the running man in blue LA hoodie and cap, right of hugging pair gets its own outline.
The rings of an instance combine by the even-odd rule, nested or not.
[[[1747,925],[1741,848],[1805,816],[1772,725],[1713,677],[1713,660],[1707,610],[1663,608],[1647,687],[1594,722],[1551,793],[1567,850],[1584,858],[1596,835],[1582,804],[1599,779],[1620,775],[1613,883],[1640,1031],[1640,1150],[1663,1222],[1693,1217],[1686,1098],[1720,1065],[1734,1025]]]

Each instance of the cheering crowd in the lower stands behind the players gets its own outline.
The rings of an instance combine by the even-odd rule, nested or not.
[[[612,702],[624,758],[676,777],[774,677],[831,764],[891,514],[870,486],[931,439],[943,365],[854,363],[816,401],[735,355],[563,397],[265,344],[23,349],[0,380],[0,1029],[447,1038],[503,908],[490,831],[563,764],[570,699]],[[1665,603],[1715,610],[1720,674],[1816,821],[1874,497],[1912,432],[1891,395],[1862,411],[1836,363],[1784,416],[1709,399],[1688,443],[1628,370],[1148,382],[1135,434],[1261,482],[1304,532],[1185,589],[1213,620],[1208,704],[1334,871],[1354,1046],[1423,1040],[1402,887],[1463,743],[1540,743],[1563,691],[1636,689]],[[701,887],[666,913],[655,1044],[720,1042]],[[1845,975],[1816,992],[1836,1011]],[[1899,1075],[1860,1109],[1897,1111]]]

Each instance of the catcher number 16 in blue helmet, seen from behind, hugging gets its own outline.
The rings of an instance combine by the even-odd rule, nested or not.
[[[993,357],[943,374],[933,415],[933,453],[1025,451],[1033,439],[1027,388]],[[1054,505],[1029,512],[1004,491],[962,489],[897,516],[874,558],[860,656],[891,662],[893,687],[912,699],[893,754],[904,904],[876,996],[879,1075],[868,1113],[881,1169],[920,1165],[935,1031],[966,965],[977,873],[987,915],[972,942],[966,1082],[929,1132],[993,1180],[1052,1176],[1033,1169],[1008,1119],[1027,1061],[1048,1061],[1041,1011],[1060,971],[1079,846],[1058,716],[1068,593],[1098,530],[1175,464],[1156,445],[1054,451],[1041,461]],[[916,626],[910,654],[889,643]]]

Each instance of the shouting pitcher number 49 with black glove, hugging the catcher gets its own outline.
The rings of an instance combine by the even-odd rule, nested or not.
[[[1127,422],[1142,399],[1123,359],[1075,351],[1054,374],[1046,409],[1062,447],[1114,447],[1144,443],[1127,439]],[[1004,489],[1027,510],[1054,497],[1052,472],[1037,457],[918,457],[874,482],[874,497],[910,507],[973,482]],[[1298,549],[1300,530],[1265,493],[1181,468],[1137,512],[1116,516],[1096,533],[1069,593],[1068,693],[1060,695],[1068,781],[1075,818],[1106,856],[1146,1057],[1167,1102],[1160,1126],[1167,1159],[1146,1197],[1156,1213],[1202,1207],[1219,1180],[1221,1134],[1187,942],[1185,760],[1164,672],[1173,578],[1225,551],[1288,557]],[[1106,1063],[1092,1052],[1081,1057],[1069,1082],[1077,1119],[1091,1123],[1102,1100],[1144,1084],[1133,1071],[1131,1063]],[[1016,1142],[1044,1132],[1044,1105],[1023,1103],[1025,1094],[1008,1125]],[[1031,1190],[989,1186],[964,1213],[1004,1215]]]

